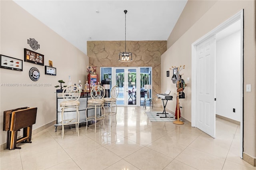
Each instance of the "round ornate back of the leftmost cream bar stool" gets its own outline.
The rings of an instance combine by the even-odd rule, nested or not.
[[[76,85],[68,85],[62,91],[62,97],[66,102],[75,102],[80,98],[81,91]]]

